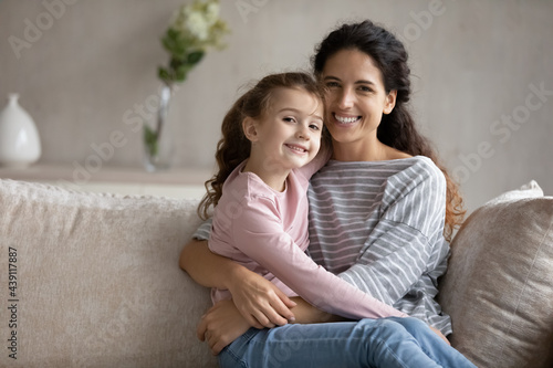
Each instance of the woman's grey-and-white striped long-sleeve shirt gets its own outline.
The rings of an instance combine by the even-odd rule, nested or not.
[[[312,179],[313,260],[375,298],[451,333],[435,301],[447,267],[446,179],[427,157],[331,160]],[[211,222],[194,238],[207,240]],[[346,303],[346,301],[344,301]]]

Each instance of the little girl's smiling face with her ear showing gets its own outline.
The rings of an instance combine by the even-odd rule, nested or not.
[[[265,170],[299,168],[310,162],[321,147],[323,104],[300,88],[276,88],[259,119],[247,118],[244,133],[252,141],[252,157]]]

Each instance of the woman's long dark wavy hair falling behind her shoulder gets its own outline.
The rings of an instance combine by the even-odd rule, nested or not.
[[[397,91],[396,105],[390,114],[383,115],[377,137],[383,144],[409,155],[429,157],[444,172],[447,180],[446,224],[444,234],[448,241],[465,217],[459,186],[439,162],[429,140],[421,136],[409,112],[410,69],[404,44],[394,34],[369,20],[344,24],[331,32],[315,49],[312,56],[315,76],[321,80],[328,57],[342,50],[358,50],[369,55],[382,72],[386,93]]]

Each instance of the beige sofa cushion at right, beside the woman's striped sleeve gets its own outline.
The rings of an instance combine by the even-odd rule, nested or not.
[[[553,364],[553,197],[535,182],[474,211],[451,243],[440,304],[480,368]]]

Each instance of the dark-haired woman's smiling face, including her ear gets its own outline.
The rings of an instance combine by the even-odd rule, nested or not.
[[[386,93],[373,57],[342,50],[328,57],[322,73],[326,87],[326,124],[337,144],[371,144],[382,115],[394,108],[396,92]]]

